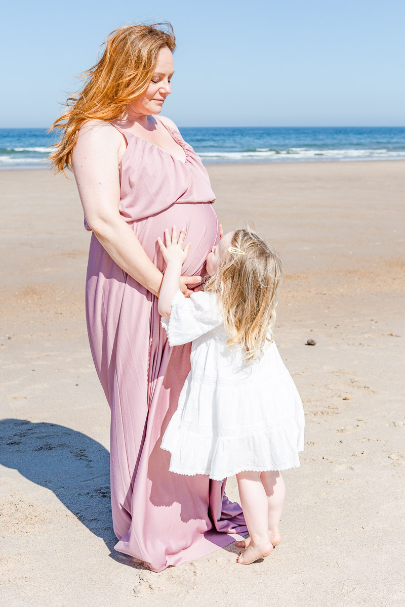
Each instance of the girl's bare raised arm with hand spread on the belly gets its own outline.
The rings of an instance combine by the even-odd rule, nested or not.
[[[177,240],[177,229],[173,226],[172,237],[170,237],[169,230],[165,230],[166,246],[163,244],[162,239],[157,239],[163,259],[165,259],[167,264],[157,305],[158,313],[163,318],[170,318],[173,297],[179,291],[182,265],[188,256],[191,245],[191,243],[188,243],[183,250],[184,235],[185,229],[183,228],[180,232],[179,240]]]

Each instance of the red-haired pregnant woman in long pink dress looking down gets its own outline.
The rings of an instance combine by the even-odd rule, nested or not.
[[[157,238],[186,229],[187,296],[219,241],[208,174],[175,124],[158,117],[171,92],[170,24],[112,32],[100,61],[53,127],[56,171],[73,169],[92,231],[86,312],[90,347],[111,407],[115,549],[154,571],[213,552],[245,533],[225,482],[168,471],[163,433],[190,368],[191,345],[169,347],[157,301],[165,267]]]

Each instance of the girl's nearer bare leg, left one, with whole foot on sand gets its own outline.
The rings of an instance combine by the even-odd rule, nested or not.
[[[250,534],[250,543],[237,560],[241,565],[245,565],[269,554],[273,550],[273,544],[268,537],[268,498],[260,480],[260,472],[248,470],[240,472],[236,478],[240,503]]]

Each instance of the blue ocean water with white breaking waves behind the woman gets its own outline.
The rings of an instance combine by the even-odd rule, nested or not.
[[[405,127],[180,127],[205,164],[405,160]],[[0,169],[47,168],[55,135],[0,129]]]

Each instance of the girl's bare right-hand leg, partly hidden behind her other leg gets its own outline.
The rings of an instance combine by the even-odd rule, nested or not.
[[[281,542],[279,522],[285,500],[284,479],[277,470],[269,470],[260,474],[268,500],[268,534],[273,546]],[[243,506],[242,506],[243,507]],[[247,548],[250,537],[236,542],[239,548]]]

